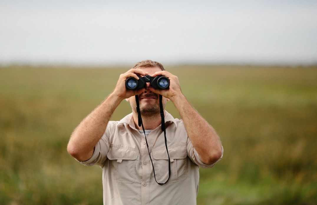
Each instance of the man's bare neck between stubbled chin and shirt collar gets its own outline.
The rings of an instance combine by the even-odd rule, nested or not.
[[[142,116],[142,123],[145,130],[154,130],[159,125],[161,125],[161,115],[159,113],[152,116],[143,116],[143,115],[141,116]],[[142,125],[139,126],[138,113],[136,112],[133,112],[133,121],[134,121],[135,128],[137,128],[138,130],[142,130]]]

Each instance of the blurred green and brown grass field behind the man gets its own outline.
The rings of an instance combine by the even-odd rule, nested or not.
[[[317,204],[316,66],[166,68],[224,147],[198,205]],[[102,204],[102,170],[66,145],[127,69],[0,67],[0,204]],[[130,112],[123,101],[112,119]]]

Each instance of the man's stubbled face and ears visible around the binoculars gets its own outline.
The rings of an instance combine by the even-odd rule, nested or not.
[[[153,75],[157,71],[161,71],[159,67],[145,67],[145,68],[138,68],[142,71],[147,72],[149,75]],[[155,114],[160,113],[159,109],[159,94],[153,93],[148,87],[151,86],[150,83],[146,83],[146,90],[139,95],[139,103],[140,103],[140,111],[143,116],[151,117]],[[133,112],[136,111],[136,102],[135,96],[130,97],[127,99],[130,102]],[[163,97],[163,108],[165,109],[167,99]]]

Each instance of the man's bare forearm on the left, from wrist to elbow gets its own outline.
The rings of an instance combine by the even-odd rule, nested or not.
[[[72,133],[67,150],[79,161],[88,160],[94,153],[94,146],[104,134],[107,124],[122,99],[111,93],[94,109]]]

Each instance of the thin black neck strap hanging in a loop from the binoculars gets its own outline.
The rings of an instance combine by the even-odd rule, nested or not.
[[[150,156],[151,163],[152,163],[154,179],[155,179],[156,183],[158,183],[158,181],[156,180],[156,176],[155,176],[154,165],[153,165],[152,157],[151,157],[150,150],[149,150],[149,144],[147,143],[145,129],[144,129],[143,122],[142,122],[141,111],[140,111],[140,103],[139,103],[138,95],[135,96],[135,101],[136,101],[136,104],[137,104],[139,127],[142,126],[142,129],[143,129],[143,132],[144,132],[144,136],[145,136],[147,151],[149,152],[149,156]],[[167,152],[167,156],[168,156],[168,179],[166,180],[165,183],[158,183],[158,184],[159,185],[164,185],[164,184],[166,184],[168,182],[168,180],[170,179],[170,176],[171,176],[171,159],[170,159],[170,155],[168,154],[168,149],[167,149],[167,139],[166,139],[166,129],[165,129],[165,119],[164,119],[164,109],[163,109],[163,103],[162,103],[162,95],[159,95],[159,108],[160,108],[160,115],[161,115],[161,129],[164,132],[165,147],[166,147],[166,152]]]

